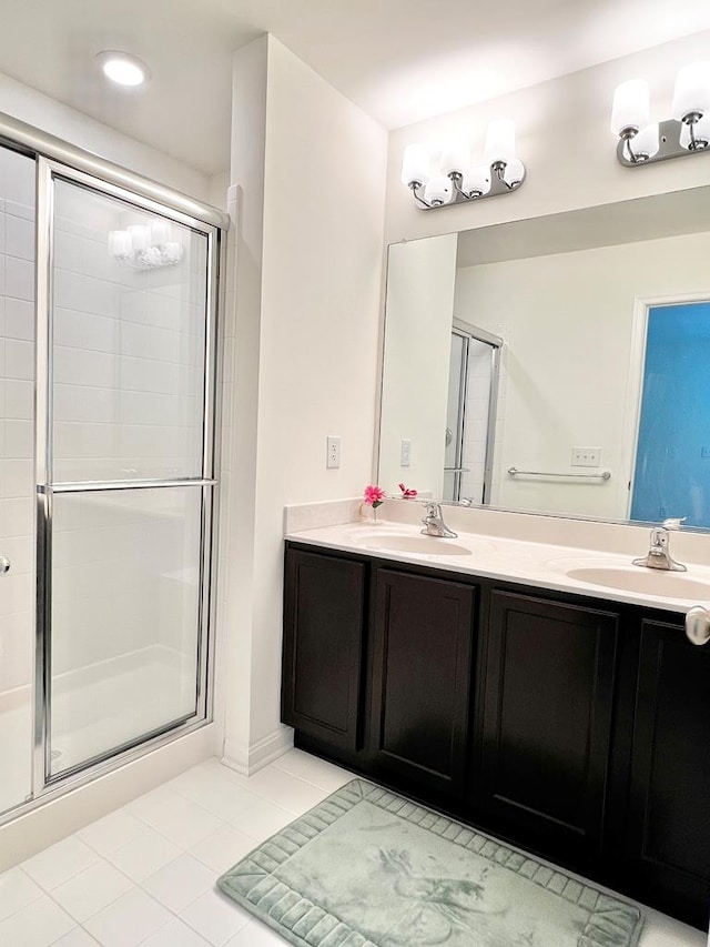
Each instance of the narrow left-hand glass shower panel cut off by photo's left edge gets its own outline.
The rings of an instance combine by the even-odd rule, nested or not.
[[[0,814],[32,794],[34,167],[0,147]]]

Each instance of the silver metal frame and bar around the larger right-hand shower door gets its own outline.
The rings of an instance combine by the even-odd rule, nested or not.
[[[0,134],[2,122],[0,121]],[[68,147],[70,157],[73,149]],[[79,152],[83,154],[82,152]],[[79,163],[79,162],[77,162]],[[100,162],[99,162],[100,164]],[[99,167],[99,170],[101,168]],[[115,179],[115,168],[106,163],[106,178]],[[131,183],[129,172],[123,172],[125,183]],[[53,379],[52,379],[52,322],[53,322],[53,194],[54,181],[63,180],[87,190],[116,198],[142,211],[158,213],[205,235],[206,299],[205,299],[205,352],[203,362],[203,441],[202,470],[199,477],[174,480],[123,480],[106,482],[54,482],[52,480],[53,434]],[[211,692],[214,676],[214,656],[211,647],[211,627],[216,615],[214,581],[214,552],[216,551],[217,495],[215,472],[217,470],[216,431],[219,422],[217,377],[217,316],[219,281],[224,265],[224,240],[222,229],[213,222],[192,216],[182,210],[187,199],[175,194],[174,201],[164,203],[152,195],[153,189],[160,198],[170,192],[152,185],[135,175],[136,190],[129,190],[123,182],[94,177],[51,158],[37,155],[37,254],[36,254],[36,474],[37,474],[37,622],[36,622],[36,688],[34,688],[34,766],[33,802],[44,802],[48,795],[74,788],[103,772],[123,765],[129,759],[142,756],[149,749],[172,742],[176,736],[190,733],[210,721]],[[197,204],[195,203],[195,206]],[[206,206],[206,205],[205,205]],[[205,214],[205,216],[210,216]],[[219,219],[219,212],[211,218]],[[200,594],[197,636],[196,711],[173,721],[155,731],[128,741],[121,746],[101,753],[74,767],[51,776],[50,726],[51,726],[51,567],[52,567],[52,515],[55,494],[93,491],[148,490],[169,487],[193,487],[201,493],[200,528]],[[29,804],[30,806],[32,804]]]

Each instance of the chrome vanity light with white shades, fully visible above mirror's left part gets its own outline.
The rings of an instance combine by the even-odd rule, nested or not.
[[[417,206],[430,211],[516,191],[525,165],[515,155],[515,123],[497,119],[488,124],[483,162],[471,165],[466,140],[446,142],[438,160],[424,144],[409,144],[402,162],[402,182]]]

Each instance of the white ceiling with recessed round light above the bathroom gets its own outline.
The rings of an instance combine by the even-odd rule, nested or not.
[[[232,54],[270,31],[386,128],[710,28],[707,0],[2,0],[0,72],[212,174]],[[110,88],[94,57],[143,59]]]

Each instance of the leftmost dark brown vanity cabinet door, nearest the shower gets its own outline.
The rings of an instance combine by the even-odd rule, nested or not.
[[[365,565],[286,550],[282,719],[339,749],[358,748]]]

